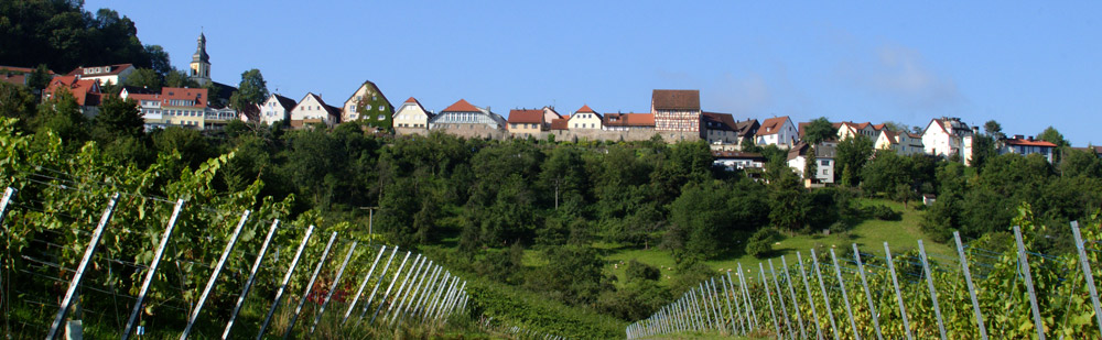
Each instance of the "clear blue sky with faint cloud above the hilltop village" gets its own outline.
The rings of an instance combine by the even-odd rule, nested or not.
[[[649,110],[701,90],[736,119],[994,119],[1102,144],[1102,2],[86,1],[134,20],[186,68],[199,30],[212,75],[259,68],[269,90],[339,106],[364,80],[395,105],[460,98],[507,114]]]

